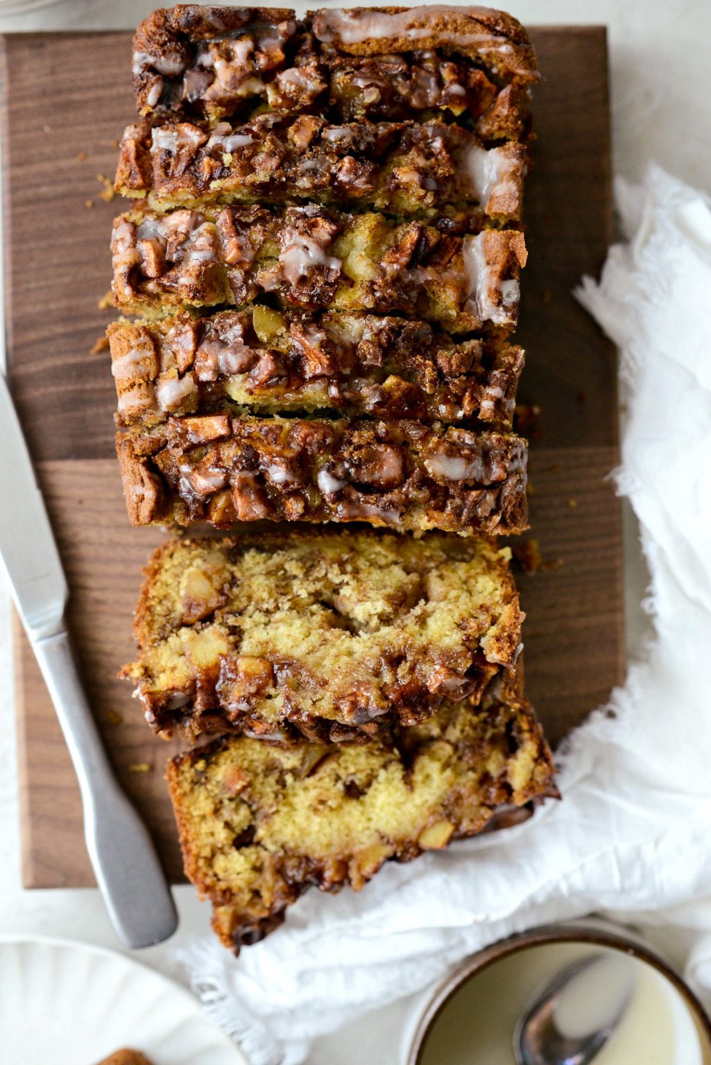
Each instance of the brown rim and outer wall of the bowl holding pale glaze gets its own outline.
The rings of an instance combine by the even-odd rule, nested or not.
[[[691,987],[668,962],[634,934],[627,930],[618,930],[615,925],[604,921],[591,920],[570,924],[547,924],[532,929],[529,932],[513,935],[496,943],[463,962],[439,984],[434,993],[430,994],[429,997],[423,997],[424,1003],[420,1011],[416,1010],[411,1022],[413,1027],[409,1028],[405,1036],[403,1065],[422,1065],[425,1044],[437,1018],[465,984],[480,976],[484,969],[505,957],[521,953],[532,947],[552,944],[618,950],[651,966],[678,993],[685,1006],[698,1035],[699,1061],[702,1061],[704,1065],[711,1063],[711,1020]],[[524,1003],[521,1005],[523,1006]],[[675,1062],[675,1065],[682,1065],[682,1063]]]

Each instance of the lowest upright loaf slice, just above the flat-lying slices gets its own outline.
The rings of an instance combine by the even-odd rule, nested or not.
[[[357,521],[468,536],[527,527],[527,446],[513,433],[222,410],[133,426],[116,450],[133,525]]]

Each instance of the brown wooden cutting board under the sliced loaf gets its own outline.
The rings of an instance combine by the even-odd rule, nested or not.
[[[520,400],[542,407],[530,535],[546,564],[519,584],[528,688],[556,742],[607,699],[623,668],[620,515],[604,479],[617,461],[615,354],[570,294],[582,274],[599,271],[612,232],[608,66],[601,28],[533,36],[544,80],[527,202]],[[119,780],[181,880],[162,780],[176,744],[151,736],[115,679],[132,653],[141,566],[161,532],[128,524],[109,356],[92,354],[112,316],[97,305],[122,210],[101,200],[97,175],[113,175],[117,138],[133,120],[130,35],[21,34],[0,44],[11,386],[66,567],[90,699]],[[16,701],[25,883],[92,884],[74,772],[19,629]]]

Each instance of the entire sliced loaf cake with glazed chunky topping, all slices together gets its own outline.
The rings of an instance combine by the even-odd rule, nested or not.
[[[125,673],[157,732],[222,735],[168,780],[232,946],[550,792],[507,550],[479,539],[527,527],[536,78],[489,9],[180,5],[136,32],[112,255],[138,320],[108,332],[128,514],[233,535],[156,553]]]

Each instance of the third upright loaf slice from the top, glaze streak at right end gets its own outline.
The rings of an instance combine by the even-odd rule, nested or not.
[[[242,306],[406,311],[452,332],[510,332],[526,243],[518,230],[435,225],[317,204],[134,212],[114,222],[113,296],[130,313]]]

